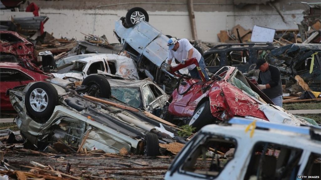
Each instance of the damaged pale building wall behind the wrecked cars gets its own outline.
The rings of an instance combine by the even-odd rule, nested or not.
[[[82,39],[84,35],[81,32],[94,35],[105,34],[110,43],[118,43],[113,35],[115,21],[124,16],[130,8],[142,7],[150,16],[150,24],[164,34],[192,39],[186,0],[166,2],[111,0],[106,3],[96,0],[91,2],[84,0],[33,2],[39,5],[42,15],[49,17],[45,30],[53,32],[57,37]],[[268,4],[243,4],[240,8],[233,0],[194,0],[198,39],[219,42],[217,34],[220,30],[232,29],[237,24],[245,29],[252,29],[254,25],[273,29],[298,29],[296,23],[299,24],[303,20],[302,12],[308,8],[299,4],[299,0],[278,0],[271,4],[280,10],[286,23],[283,22],[280,14]],[[26,4],[22,5],[22,8],[25,8],[24,6]],[[95,7],[98,8],[95,9]]]

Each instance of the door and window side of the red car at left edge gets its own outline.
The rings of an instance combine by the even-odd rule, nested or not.
[[[1,68],[0,69],[0,98],[1,98],[1,110],[13,110],[9,96],[6,95],[8,89],[15,86],[21,86],[35,81],[26,73],[12,68]]]

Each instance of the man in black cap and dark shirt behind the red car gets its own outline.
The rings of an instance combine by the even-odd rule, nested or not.
[[[257,79],[258,88],[274,102],[275,105],[282,107],[282,84],[280,70],[270,65],[265,59],[258,59],[256,68],[259,69]]]

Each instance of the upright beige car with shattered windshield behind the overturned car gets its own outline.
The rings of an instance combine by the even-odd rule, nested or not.
[[[146,110],[156,116],[160,116],[160,111],[169,98],[161,88],[151,81],[109,78],[108,82],[111,86],[111,95],[117,100]]]

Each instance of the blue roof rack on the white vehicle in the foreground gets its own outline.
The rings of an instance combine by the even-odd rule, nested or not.
[[[241,125],[249,125],[252,123],[252,119],[245,119],[245,118],[239,118],[234,117],[229,120],[229,124],[241,124]],[[287,124],[277,124],[272,122],[260,122],[256,121],[256,127],[257,128],[267,128],[267,129],[278,129],[283,130],[287,132],[293,132],[293,133],[300,133],[304,135],[310,135],[311,139],[318,140],[319,138],[316,138],[315,135],[319,134],[315,131],[320,131],[321,129],[318,127],[310,127],[310,126],[291,126]],[[319,134],[320,136],[320,134]]]

